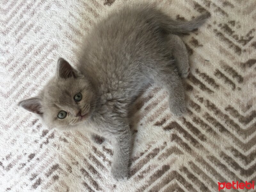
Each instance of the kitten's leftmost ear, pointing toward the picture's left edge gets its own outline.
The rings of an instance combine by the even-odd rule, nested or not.
[[[42,101],[37,97],[32,97],[27,100],[20,101],[18,106],[35,113],[36,115],[43,116]]]

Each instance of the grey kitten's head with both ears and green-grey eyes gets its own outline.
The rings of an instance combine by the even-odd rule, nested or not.
[[[66,60],[57,62],[55,76],[36,96],[19,102],[50,128],[69,130],[88,121],[95,109],[92,84]]]

